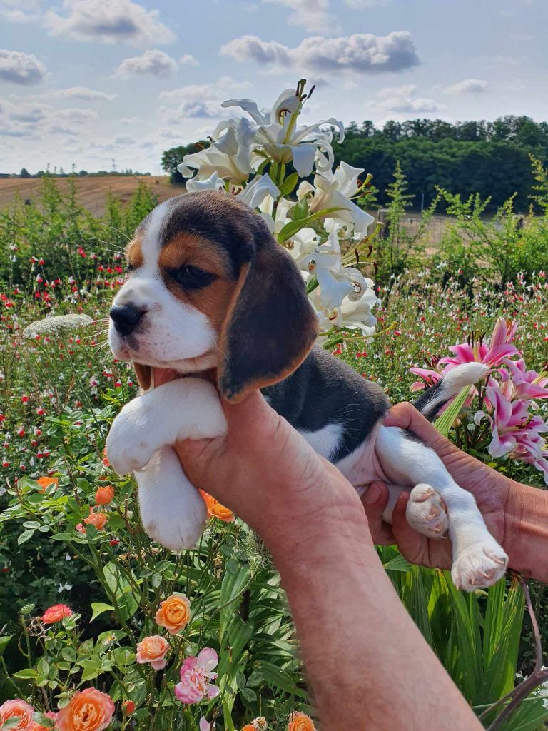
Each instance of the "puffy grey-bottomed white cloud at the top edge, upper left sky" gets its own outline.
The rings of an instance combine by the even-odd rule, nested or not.
[[[53,35],[132,45],[170,43],[175,38],[157,10],[145,10],[132,0],[63,0],[63,11],[64,15],[53,10],[45,15]]]

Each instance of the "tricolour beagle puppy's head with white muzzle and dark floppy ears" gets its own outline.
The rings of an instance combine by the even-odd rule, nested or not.
[[[291,257],[261,216],[224,192],[171,198],[126,251],[129,278],[113,301],[109,342],[134,360],[180,373],[217,368],[228,401],[280,381],[302,363],[316,317]]]

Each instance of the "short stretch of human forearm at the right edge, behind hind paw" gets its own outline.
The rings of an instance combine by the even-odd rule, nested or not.
[[[512,482],[505,518],[510,567],[548,583],[548,490]]]

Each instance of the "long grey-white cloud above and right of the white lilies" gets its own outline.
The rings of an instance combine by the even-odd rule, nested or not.
[[[408,31],[393,31],[387,36],[366,33],[339,38],[308,37],[295,48],[248,35],[221,46],[221,53],[237,61],[252,61],[265,67],[315,72],[378,74],[403,71],[419,64]]]

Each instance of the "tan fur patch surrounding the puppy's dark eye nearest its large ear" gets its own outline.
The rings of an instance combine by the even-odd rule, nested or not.
[[[158,263],[167,289],[178,299],[203,312],[213,327],[220,332],[237,286],[232,279],[227,252],[200,236],[180,233],[162,247]],[[214,274],[216,279],[203,289],[185,290],[168,275],[169,270],[179,269],[185,265],[192,265]]]

